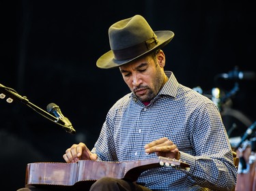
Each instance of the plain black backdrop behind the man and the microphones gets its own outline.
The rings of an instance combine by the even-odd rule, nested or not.
[[[154,31],[175,37],[163,50],[165,69],[177,80],[208,94],[229,92],[234,82],[214,80],[235,66],[256,71],[253,1],[12,1],[2,5],[0,84],[14,88],[46,110],[56,103],[76,129],[40,116],[20,101],[0,100],[1,178],[5,190],[25,183],[29,162],[63,162],[73,143],[92,148],[106,112],[129,92],[118,69],[98,69],[109,51],[108,29],[141,14]],[[231,107],[256,119],[255,81],[240,80]],[[242,131],[246,130],[246,126]]]

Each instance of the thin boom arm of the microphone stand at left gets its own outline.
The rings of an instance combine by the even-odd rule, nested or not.
[[[25,97],[25,96],[22,97],[20,94],[18,94],[18,92],[16,92],[16,90],[14,90],[12,88],[8,88],[8,87],[0,84],[0,92],[2,92],[0,94],[0,99],[5,99],[5,95],[8,95],[8,97],[10,97],[10,98],[6,99],[6,101],[8,103],[12,103],[13,99],[20,101],[21,103],[24,103],[25,105],[27,105],[28,107],[30,107],[31,109],[36,111],[38,114],[44,116],[44,118],[47,118],[48,120],[51,120],[52,122],[55,122],[56,124],[59,124],[62,128],[65,129],[66,132],[72,133],[72,134],[76,133],[76,131],[74,130],[74,128],[72,126],[66,126],[65,124],[63,124],[63,122],[61,120],[59,120],[59,118],[56,118],[55,116],[44,111],[44,109],[41,109],[40,107],[31,103],[29,101],[29,99],[27,99],[27,97]]]

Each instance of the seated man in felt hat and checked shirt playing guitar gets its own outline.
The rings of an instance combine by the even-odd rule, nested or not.
[[[171,31],[153,31],[140,15],[109,28],[111,50],[96,65],[119,68],[131,92],[109,109],[92,150],[84,143],[74,144],[63,158],[66,162],[130,161],[163,156],[186,162],[190,169],[148,169],[134,182],[103,177],[91,191],[227,191],[236,186],[237,169],[218,108],[164,70],[161,48],[173,36]]]

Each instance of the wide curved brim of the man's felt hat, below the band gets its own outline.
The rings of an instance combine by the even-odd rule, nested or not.
[[[154,31],[154,33],[156,34],[158,39],[158,44],[154,46],[154,48],[148,50],[147,52],[144,52],[143,54],[140,54],[139,56],[127,60],[116,60],[114,58],[113,51],[109,50],[109,52],[106,52],[105,54],[100,56],[100,58],[98,58],[96,62],[97,67],[102,69],[110,69],[130,63],[132,62],[132,60],[140,58],[141,56],[150,53],[153,50],[162,48],[163,46],[167,45],[174,36],[174,33],[172,31]]]

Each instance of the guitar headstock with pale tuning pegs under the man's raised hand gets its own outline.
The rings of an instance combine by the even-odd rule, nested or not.
[[[189,171],[190,165],[186,162],[182,162],[181,160],[176,160],[175,158],[167,158],[163,156],[158,157],[160,159],[159,164],[161,166],[166,166],[166,167],[174,167],[176,169],[184,169],[186,171]]]

